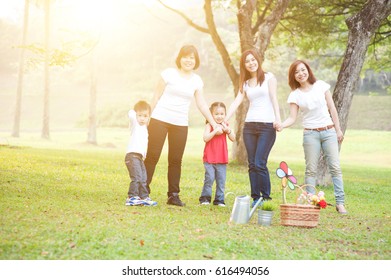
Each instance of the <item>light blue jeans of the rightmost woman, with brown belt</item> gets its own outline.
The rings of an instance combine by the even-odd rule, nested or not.
[[[318,162],[320,152],[323,150],[334,184],[335,201],[337,205],[344,204],[345,194],[335,129],[332,128],[323,131],[304,130],[303,148],[306,162],[305,183],[312,186],[316,185]]]

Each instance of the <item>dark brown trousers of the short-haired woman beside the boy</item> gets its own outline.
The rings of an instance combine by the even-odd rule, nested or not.
[[[148,150],[145,158],[147,169],[147,189],[151,192],[150,184],[159,161],[164,142],[168,138],[168,192],[167,196],[178,195],[182,171],[182,157],[187,140],[187,126],[178,126],[151,119],[148,125]]]

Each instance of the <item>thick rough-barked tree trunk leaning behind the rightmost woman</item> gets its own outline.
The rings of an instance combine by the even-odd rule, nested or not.
[[[360,72],[371,39],[382,21],[391,13],[391,0],[370,0],[357,14],[346,20],[349,29],[344,60],[335,85],[333,100],[338,111],[342,132],[345,134],[350,105],[357,89]],[[331,177],[325,160],[319,160],[317,184],[328,185]]]

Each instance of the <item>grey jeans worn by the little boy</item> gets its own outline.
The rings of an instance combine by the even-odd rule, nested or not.
[[[147,198],[149,196],[147,190],[147,172],[142,155],[127,153],[125,164],[130,177],[128,196],[139,196],[142,199]]]

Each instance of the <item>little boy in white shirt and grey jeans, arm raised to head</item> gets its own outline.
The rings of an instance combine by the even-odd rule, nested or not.
[[[130,121],[130,140],[126,150],[125,164],[129,171],[130,185],[127,206],[156,206],[157,202],[149,198],[147,190],[147,172],[144,159],[148,147],[147,125],[151,107],[145,101],[139,101],[128,113]]]

